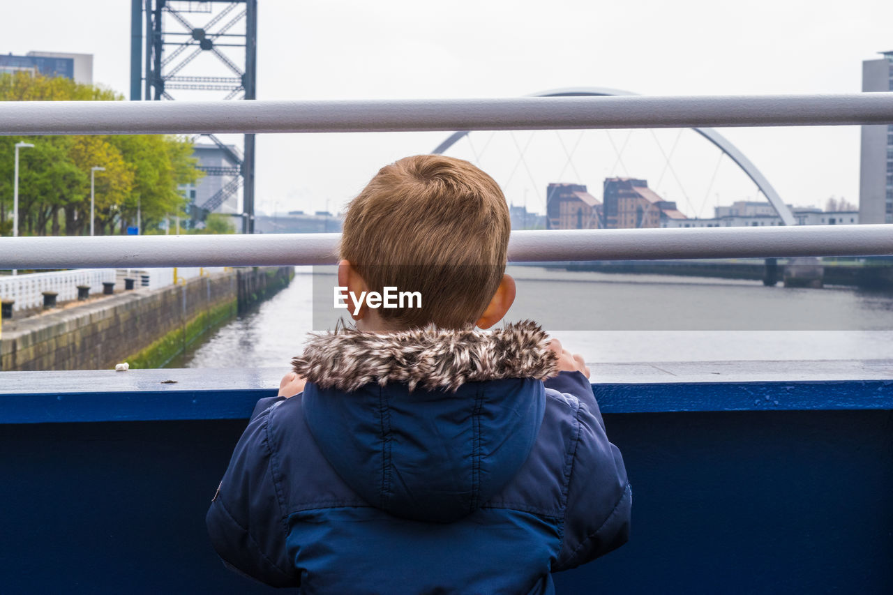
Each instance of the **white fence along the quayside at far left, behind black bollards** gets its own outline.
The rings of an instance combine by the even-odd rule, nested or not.
[[[32,272],[0,277],[0,299],[14,299],[13,310],[22,310],[43,305],[44,291],[55,291],[59,294],[56,299],[62,302],[78,298],[79,285],[89,285],[90,292],[97,293],[103,290],[104,281],[114,280],[115,272],[108,269]]]

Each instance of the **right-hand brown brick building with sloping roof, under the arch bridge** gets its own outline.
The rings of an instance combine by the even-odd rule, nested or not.
[[[665,223],[688,219],[676,208],[676,203],[663,200],[649,189],[647,180],[607,178],[603,196],[608,229],[670,227]]]

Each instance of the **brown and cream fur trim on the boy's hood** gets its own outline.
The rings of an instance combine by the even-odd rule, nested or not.
[[[370,382],[405,382],[409,390],[458,390],[465,382],[533,378],[555,373],[557,356],[537,323],[495,331],[430,325],[387,334],[339,327],[313,333],[294,371],[322,389],[353,391]]]

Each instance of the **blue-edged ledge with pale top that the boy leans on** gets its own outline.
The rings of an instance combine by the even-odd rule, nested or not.
[[[605,413],[893,409],[893,361],[590,365]],[[0,373],[0,423],[245,419],[287,370]]]

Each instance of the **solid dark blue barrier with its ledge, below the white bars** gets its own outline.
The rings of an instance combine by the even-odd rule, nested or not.
[[[893,592],[891,365],[592,365],[632,530],[556,591]],[[3,592],[289,592],[224,568],[204,526],[281,373],[0,374]]]

